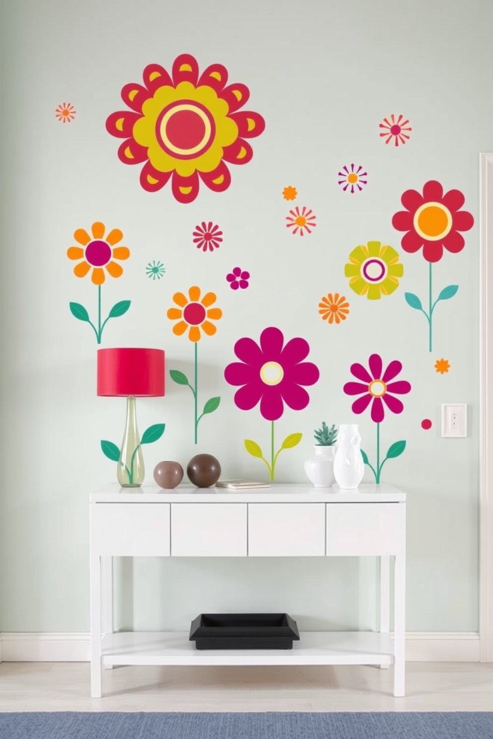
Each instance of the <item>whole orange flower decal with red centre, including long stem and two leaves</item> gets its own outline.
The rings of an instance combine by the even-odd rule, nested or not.
[[[219,407],[221,398],[209,398],[203,407],[203,412],[198,414],[198,364],[197,364],[197,344],[202,334],[206,336],[214,336],[216,327],[212,321],[219,321],[222,317],[222,310],[218,307],[211,307],[216,302],[214,293],[205,293],[203,299],[200,300],[200,287],[194,285],[188,290],[188,298],[183,293],[174,293],[173,302],[178,307],[171,307],[167,316],[170,321],[177,321],[173,327],[175,336],[183,336],[188,331],[188,339],[194,344],[194,384],[188,381],[188,377],[184,372],[178,369],[170,369],[169,375],[171,380],[178,385],[186,385],[191,389],[194,396],[194,443],[197,443],[197,432],[201,418],[212,413]]]

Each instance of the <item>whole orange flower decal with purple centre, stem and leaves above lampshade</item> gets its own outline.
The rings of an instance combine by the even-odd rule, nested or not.
[[[118,262],[128,259],[130,256],[129,248],[126,246],[116,246],[122,239],[123,234],[119,228],[113,228],[106,236],[104,235],[106,227],[104,223],[97,221],[92,224],[89,236],[84,228],[78,228],[74,232],[74,239],[80,246],[70,246],[67,249],[69,259],[77,261],[74,267],[76,277],[85,277],[91,272],[91,281],[93,285],[98,286],[98,327],[89,319],[89,313],[81,303],[69,303],[70,313],[78,321],[85,321],[92,327],[95,333],[96,341],[101,344],[101,336],[103,329],[109,319],[115,319],[123,316],[129,310],[130,301],[120,300],[115,303],[109,311],[108,316],[101,324],[101,285],[106,280],[106,273],[110,277],[120,277],[123,274],[123,267]],[[115,262],[115,259],[117,260]],[[105,273],[106,270],[106,273]]]

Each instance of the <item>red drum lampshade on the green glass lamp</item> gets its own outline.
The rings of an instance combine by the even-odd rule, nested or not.
[[[98,349],[98,395],[164,395],[164,351]]]

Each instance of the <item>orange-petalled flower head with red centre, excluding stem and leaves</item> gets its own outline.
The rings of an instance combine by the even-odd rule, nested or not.
[[[211,321],[219,321],[222,317],[220,308],[211,308],[216,300],[215,293],[205,293],[200,300],[200,287],[197,286],[188,290],[188,298],[183,293],[174,293],[173,302],[179,307],[169,308],[167,313],[171,321],[178,321],[173,333],[182,336],[188,330],[188,338],[194,343],[200,341],[201,329],[207,336],[214,336],[217,329]]]

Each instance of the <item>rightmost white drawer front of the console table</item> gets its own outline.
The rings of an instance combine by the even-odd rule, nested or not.
[[[406,506],[401,503],[330,503],[326,518],[328,556],[404,551]]]

